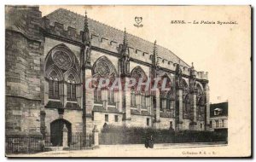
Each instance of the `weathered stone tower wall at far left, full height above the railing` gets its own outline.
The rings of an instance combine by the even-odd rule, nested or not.
[[[44,42],[38,7],[6,6],[6,132],[40,132],[40,57]]]

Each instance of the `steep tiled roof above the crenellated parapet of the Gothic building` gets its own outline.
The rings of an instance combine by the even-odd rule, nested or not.
[[[64,26],[71,26],[79,31],[84,29],[84,16],[80,14],[73,13],[67,9],[56,9],[54,12],[45,16],[51,22],[59,22]],[[102,38],[108,38],[117,43],[123,43],[124,32],[119,29],[113,28],[112,26],[105,25],[96,20],[88,18],[89,31],[91,34],[96,34]],[[130,47],[134,49],[139,49],[148,54],[152,54],[154,43],[150,43],[143,38],[138,38],[137,36],[127,33],[127,40]],[[167,61],[173,61],[178,63],[180,60],[177,55],[173,54],[171,50],[157,45],[157,51],[159,57],[166,59]],[[189,67],[184,61],[180,61],[181,66]]]

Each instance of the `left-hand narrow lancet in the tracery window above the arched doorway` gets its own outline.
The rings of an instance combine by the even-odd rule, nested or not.
[[[60,99],[59,79],[55,71],[49,74],[49,99]]]

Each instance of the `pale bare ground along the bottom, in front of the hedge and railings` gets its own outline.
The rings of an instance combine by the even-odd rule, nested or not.
[[[102,145],[89,150],[50,151],[33,154],[12,154],[9,157],[175,157],[175,156],[221,156],[227,146],[224,143],[173,143],[154,144],[154,148],[136,145]],[[215,148],[218,149],[215,150]],[[213,149],[212,149],[213,148]],[[213,150],[213,151],[212,151]]]

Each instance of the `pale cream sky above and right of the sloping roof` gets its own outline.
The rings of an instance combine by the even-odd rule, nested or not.
[[[236,100],[236,93],[250,91],[247,6],[40,6],[43,16],[59,8],[83,15],[86,10],[90,19],[120,30],[126,28],[152,43],[157,40],[189,65],[194,62],[196,71],[208,72],[212,103]],[[143,27],[134,26],[136,16],[143,17]],[[172,20],[191,23],[172,24]],[[201,20],[236,21],[236,25],[201,24]]]

